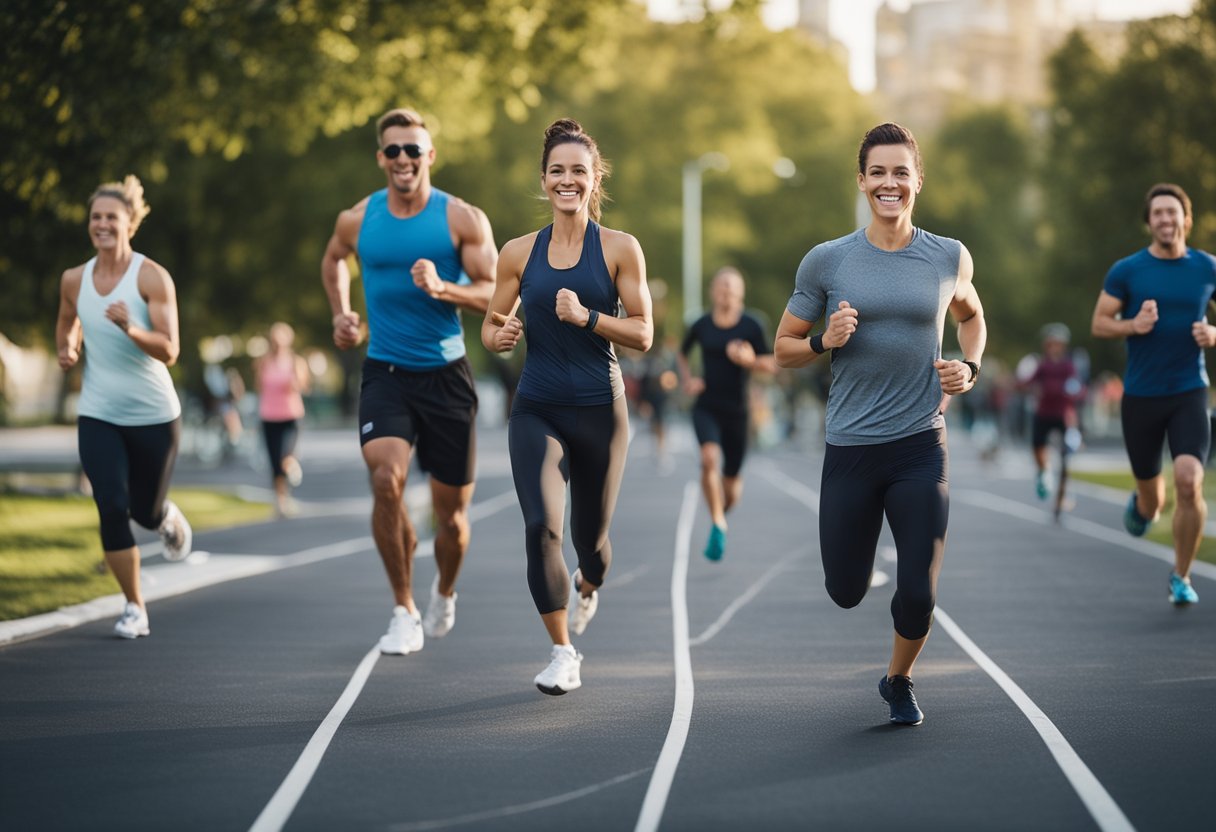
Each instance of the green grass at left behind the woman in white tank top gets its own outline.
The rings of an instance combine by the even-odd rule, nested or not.
[[[270,519],[271,508],[219,491],[170,494],[195,532]],[[24,618],[112,595],[101,563],[97,510],[79,495],[0,495],[0,620]]]

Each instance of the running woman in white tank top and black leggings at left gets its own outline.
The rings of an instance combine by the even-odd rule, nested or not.
[[[94,192],[89,238],[97,255],[63,272],[55,327],[61,369],[75,366],[84,348],[80,463],[101,517],[106,563],[126,596],[114,625],[124,639],[148,634],[130,521],[157,529],[170,561],[185,558],[191,544],[190,524],[167,499],[181,434],[168,370],[180,350],[176,292],[168,271],[131,249],[147,213],[135,176]]]

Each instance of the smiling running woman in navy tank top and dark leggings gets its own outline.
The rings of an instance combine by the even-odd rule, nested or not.
[[[654,324],[637,241],[598,224],[607,165],[578,122],[545,131],[541,187],[553,223],[499,255],[482,343],[495,353],[528,339],[511,410],[511,470],[524,515],[528,586],[552,641],[535,679],[545,693],[579,687],[582,654],[570,643],[598,605],[612,563],[608,527],[629,448],[629,415],[613,344],[651,348]],[[617,316],[618,303],[625,316]],[[514,313],[523,305],[524,320]],[[565,487],[579,566],[562,558]],[[573,578],[573,580],[572,580]]]

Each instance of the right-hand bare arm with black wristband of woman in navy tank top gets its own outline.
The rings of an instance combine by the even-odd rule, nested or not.
[[[625,317],[599,315],[592,331],[613,343],[646,352],[654,342],[651,289],[646,283],[646,257],[632,235],[603,229],[602,241],[608,270],[615,275],[617,294]],[[570,289],[557,293],[557,316],[573,326],[586,326],[591,310]]]

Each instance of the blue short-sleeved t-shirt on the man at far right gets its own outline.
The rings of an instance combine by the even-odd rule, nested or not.
[[[1216,258],[1198,248],[1176,260],[1142,248],[1110,268],[1102,286],[1124,302],[1122,316],[1136,317],[1141,304],[1156,300],[1156,325],[1127,337],[1124,392],[1128,395],[1176,395],[1207,387],[1204,350],[1190,325],[1205,319],[1216,293]]]

